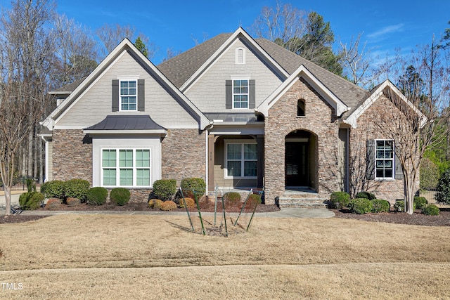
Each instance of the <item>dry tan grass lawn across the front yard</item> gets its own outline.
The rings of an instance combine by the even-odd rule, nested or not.
[[[269,218],[249,232],[228,226],[229,237],[192,233],[186,216],[1,224],[0,299],[450,299],[449,227]]]

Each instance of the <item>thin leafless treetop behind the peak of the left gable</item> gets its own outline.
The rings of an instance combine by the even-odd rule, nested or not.
[[[150,42],[150,38],[142,33],[136,35],[136,28],[130,25],[121,26],[117,23],[113,25],[105,24],[96,30],[96,34],[103,43],[103,48],[101,49],[103,58],[113,51],[113,49],[126,38],[130,41],[135,41],[139,37],[141,42],[146,45],[148,54],[147,58],[150,60],[158,51],[158,47]]]

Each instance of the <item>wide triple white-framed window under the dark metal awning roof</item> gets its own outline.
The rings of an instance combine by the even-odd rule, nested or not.
[[[103,149],[102,185],[150,187],[150,149]]]

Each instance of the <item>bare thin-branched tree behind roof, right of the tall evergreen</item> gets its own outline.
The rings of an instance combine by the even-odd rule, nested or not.
[[[370,81],[370,79],[366,78],[370,66],[367,55],[370,51],[366,51],[367,41],[364,45],[360,45],[361,37],[362,33],[358,34],[356,39],[352,36],[348,45],[342,43],[342,41],[339,41],[339,44],[344,75],[354,84],[364,86]]]

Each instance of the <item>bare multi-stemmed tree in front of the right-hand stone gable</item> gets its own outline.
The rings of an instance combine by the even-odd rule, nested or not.
[[[450,98],[450,70],[444,60],[442,48],[434,40],[431,45],[419,48],[408,62],[397,58],[396,65],[401,74],[405,74],[406,66],[413,65],[418,78],[423,79],[423,84],[418,84],[416,79],[402,81],[404,96],[395,90],[387,90],[387,97],[401,114],[380,112],[378,115],[378,124],[387,125],[379,129],[394,141],[395,154],[401,163],[408,214],[413,214],[413,198],[418,188],[416,185],[423,154],[433,143],[442,143],[449,130],[445,123],[449,119],[449,110],[446,108],[449,107]]]

